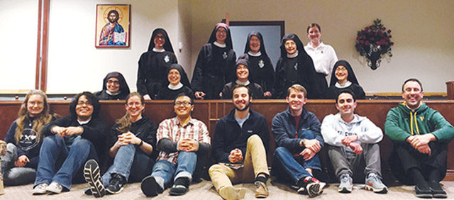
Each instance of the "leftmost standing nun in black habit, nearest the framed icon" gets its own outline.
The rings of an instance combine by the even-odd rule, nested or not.
[[[177,57],[167,32],[156,28],[151,35],[148,51],[140,55],[138,62],[137,90],[144,99],[155,99],[160,89],[167,86],[166,72],[174,63],[177,63]],[[187,76],[182,77],[182,83],[191,87]]]

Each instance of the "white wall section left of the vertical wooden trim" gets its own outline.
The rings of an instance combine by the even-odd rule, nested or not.
[[[38,1],[0,0],[0,90],[35,88]]]

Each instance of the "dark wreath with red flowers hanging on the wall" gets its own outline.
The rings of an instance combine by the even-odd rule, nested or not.
[[[375,70],[380,67],[382,55],[392,57],[391,46],[394,43],[391,38],[391,30],[387,30],[377,18],[374,24],[358,31],[355,48],[367,58],[367,65]]]

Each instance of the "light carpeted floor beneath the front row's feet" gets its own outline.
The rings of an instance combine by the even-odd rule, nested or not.
[[[448,193],[448,199],[454,199],[454,182],[442,182],[443,189]],[[40,196],[33,196],[32,184],[25,186],[6,187],[5,194],[0,195],[0,199],[95,199],[94,196],[87,196],[84,194],[84,188],[87,184],[75,184],[71,191],[63,192],[62,194],[47,194]],[[245,187],[246,196],[245,199],[255,199],[254,184],[238,184],[236,187]],[[287,185],[268,182],[270,189],[270,196],[267,199],[309,199],[309,196],[297,194],[294,189],[287,187]],[[360,184],[355,184],[355,189],[351,194],[339,194],[337,191],[337,184],[331,184],[327,186],[321,196],[317,196],[313,199],[335,199],[335,200],[375,200],[375,199],[418,199],[414,196],[414,187],[411,186],[396,186],[389,187],[388,194],[375,194],[372,191],[366,191],[360,189]],[[104,199],[146,199],[145,195],[140,191],[140,183],[127,184],[124,190],[120,194],[106,195]],[[164,191],[163,194],[148,199],[184,199],[184,200],[208,200],[208,199],[219,199],[216,189],[213,184],[209,181],[202,181],[198,184],[192,184],[189,192],[184,196],[170,196],[169,190]]]

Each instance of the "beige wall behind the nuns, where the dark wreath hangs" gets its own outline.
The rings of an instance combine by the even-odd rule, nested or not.
[[[285,21],[286,33],[306,44],[306,26],[321,25],[324,43],[348,60],[366,92],[399,91],[418,77],[425,91],[445,91],[454,77],[454,1],[204,1],[192,3],[192,66],[214,25],[230,13],[231,21]],[[392,30],[394,56],[373,71],[355,50],[358,30],[375,18]],[[274,64],[275,65],[275,64]]]

